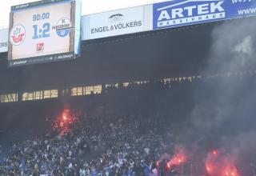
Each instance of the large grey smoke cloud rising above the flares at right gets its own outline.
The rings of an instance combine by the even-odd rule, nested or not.
[[[239,165],[256,157],[256,82],[250,76],[256,64],[255,29],[255,19],[244,18],[212,30],[208,66],[202,75],[225,76],[209,78],[194,91],[189,127],[180,137],[191,151],[218,148]]]

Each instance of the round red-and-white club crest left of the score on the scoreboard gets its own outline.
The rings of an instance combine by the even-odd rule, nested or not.
[[[16,25],[10,30],[10,42],[14,46],[19,46],[26,38],[26,30],[22,25]]]

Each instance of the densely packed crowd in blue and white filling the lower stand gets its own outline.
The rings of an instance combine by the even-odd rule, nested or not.
[[[65,127],[56,126],[60,118],[49,133],[13,142],[0,174],[157,175],[156,163],[172,141],[157,115],[101,107],[95,114],[73,114],[77,120]]]

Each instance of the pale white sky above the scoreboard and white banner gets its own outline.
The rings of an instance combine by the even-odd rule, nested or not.
[[[155,2],[164,2],[167,0],[82,0],[82,15],[96,14],[109,10],[118,10],[132,6],[142,6]],[[0,26],[8,25],[10,6],[19,5],[27,2],[36,2],[31,0],[1,0],[0,6]]]

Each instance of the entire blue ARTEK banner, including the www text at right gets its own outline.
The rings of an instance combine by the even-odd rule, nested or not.
[[[154,30],[256,15],[256,0],[173,0],[153,5]]]

